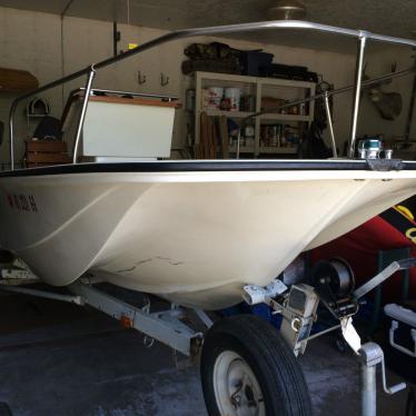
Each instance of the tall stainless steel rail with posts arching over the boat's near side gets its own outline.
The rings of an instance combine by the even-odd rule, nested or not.
[[[177,39],[182,38],[190,38],[190,37],[198,37],[198,36],[210,36],[210,34],[225,34],[225,33],[235,33],[235,32],[246,32],[246,31],[254,31],[254,30],[270,30],[270,29],[308,29],[308,30],[315,30],[319,32],[325,33],[333,33],[333,34],[341,34],[347,37],[357,38],[359,40],[359,48],[357,53],[357,73],[356,73],[356,82],[355,82],[355,101],[354,101],[354,111],[351,116],[351,135],[349,140],[349,156],[351,157],[354,155],[354,148],[355,148],[355,131],[357,127],[357,119],[358,119],[358,107],[359,107],[359,91],[360,83],[361,83],[361,77],[363,73],[359,71],[359,62],[363,61],[363,56],[365,51],[365,44],[366,40],[372,39],[375,41],[386,42],[386,43],[394,43],[394,44],[404,44],[409,47],[416,47],[416,41],[410,39],[404,39],[404,38],[394,38],[377,33],[372,33],[364,30],[353,30],[353,29],[345,29],[345,28],[337,28],[335,26],[328,26],[328,24],[320,24],[320,23],[314,23],[314,22],[307,22],[307,21],[299,21],[299,20],[275,20],[275,21],[266,21],[266,22],[254,22],[254,23],[241,23],[241,24],[227,24],[227,26],[218,26],[218,27],[208,27],[208,28],[197,28],[197,29],[185,29],[185,30],[176,30],[172,32],[169,32],[167,34],[160,36],[153,40],[150,40],[135,49],[131,49],[129,51],[126,51],[123,53],[120,53],[116,57],[111,57],[108,59],[105,59],[98,63],[95,63],[93,66],[88,66],[85,69],[81,69],[77,72],[73,72],[69,76],[66,76],[63,78],[60,78],[56,81],[49,82],[33,91],[27,92],[20,97],[18,97],[11,105],[10,108],[10,115],[9,115],[9,136],[10,136],[10,168],[11,170],[14,169],[14,138],[13,138],[13,117],[16,113],[17,106],[20,101],[32,97],[39,92],[46,91],[48,89],[58,87],[62,83],[72,81],[79,77],[82,77],[85,75],[89,75],[88,81],[86,85],[86,90],[88,91],[91,88],[92,79],[91,79],[91,69],[97,71],[98,69],[108,67],[110,65],[113,65],[116,62],[119,62],[123,59],[127,59],[129,57],[132,57],[135,55],[141,53],[148,49],[155,48],[159,44],[167,43]],[[93,76],[92,76],[93,77]],[[90,82],[91,79],[91,82]],[[89,96],[86,95],[86,108],[88,106],[88,99]],[[78,128],[82,130],[83,126],[83,119],[85,119],[85,112],[82,111],[82,117],[80,117]],[[78,129],[77,129],[78,130]],[[77,141],[79,141],[79,137],[77,137]],[[75,143],[75,148],[78,148],[78,143]],[[72,155],[72,157],[76,155]]]

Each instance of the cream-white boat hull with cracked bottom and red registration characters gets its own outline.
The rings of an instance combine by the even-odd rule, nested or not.
[[[1,177],[0,246],[50,285],[100,270],[115,285],[217,309],[415,189],[415,170]]]

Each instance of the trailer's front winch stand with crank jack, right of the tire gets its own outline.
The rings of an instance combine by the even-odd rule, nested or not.
[[[405,383],[387,387],[384,353],[376,343],[361,344],[353,325],[353,316],[364,303],[363,297],[398,270],[416,266],[416,258],[393,261],[366,284],[355,289],[351,268],[340,258],[319,261],[311,270],[310,284],[297,284],[284,290],[284,284],[271,283],[267,288],[246,286],[246,301],[266,303],[276,314],[283,315],[281,335],[294,354],[304,354],[307,343],[329,331],[340,329],[346,343],[360,358],[361,416],[376,416],[376,366],[382,365],[383,388],[393,395],[406,388]],[[283,286],[284,285],[284,286]],[[270,288],[275,288],[270,290]],[[256,293],[256,296],[252,294]],[[318,305],[321,303],[339,320],[328,329],[310,335],[317,320]],[[250,305],[255,303],[251,301]]]

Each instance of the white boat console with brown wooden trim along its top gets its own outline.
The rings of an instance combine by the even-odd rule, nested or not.
[[[132,92],[91,91],[83,122],[79,161],[129,162],[170,156],[175,109],[171,97]],[[72,93],[62,117],[63,140],[72,148],[76,120],[82,109],[83,92]],[[106,120],[106,122],[102,122]]]

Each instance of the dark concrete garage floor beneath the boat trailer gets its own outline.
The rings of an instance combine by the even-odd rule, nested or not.
[[[0,402],[14,416],[206,415],[197,366],[103,315],[22,296],[0,298]],[[331,337],[300,358],[315,416],[359,415],[358,365]],[[398,377],[389,377],[389,383]],[[404,415],[407,393],[379,394],[378,415]]]

